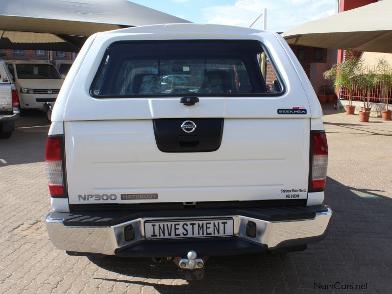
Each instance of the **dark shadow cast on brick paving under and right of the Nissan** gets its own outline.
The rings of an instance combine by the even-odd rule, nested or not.
[[[378,195],[378,191],[344,186],[328,177],[324,202],[334,215],[323,241],[286,255],[211,257],[204,279],[183,281],[183,285],[172,285],[170,281],[164,284],[164,279],[179,278],[172,262],[154,264],[151,259],[114,256],[90,260],[123,277],[129,276],[96,279],[128,283],[128,287],[153,286],[159,293],[314,293],[325,292],[315,283],[336,282],[352,284],[354,289],[357,284],[368,283],[363,293],[391,293],[392,201]]]

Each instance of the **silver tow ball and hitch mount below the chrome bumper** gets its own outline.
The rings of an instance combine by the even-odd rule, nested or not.
[[[174,258],[174,263],[179,267],[180,276],[185,280],[200,280],[204,277],[204,262],[208,257],[197,258],[197,253],[191,250],[187,254],[188,258]]]

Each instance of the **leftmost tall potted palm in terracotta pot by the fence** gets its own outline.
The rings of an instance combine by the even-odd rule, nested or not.
[[[333,80],[336,90],[342,89],[348,91],[348,105],[346,105],[347,115],[354,115],[355,106],[352,105],[352,93],[354,90],[354,76],[357,59],[350,57],[342,63],[334,64],[332,68],[323,76],[327,80]]]

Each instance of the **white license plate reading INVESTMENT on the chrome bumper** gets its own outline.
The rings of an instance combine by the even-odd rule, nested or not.
[[[146,239],[232,236],[233,219],[193,221],[146,221]]]

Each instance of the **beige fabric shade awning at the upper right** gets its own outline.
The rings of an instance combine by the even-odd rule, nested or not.
[[[294,45],[392,53],[392,1],[308,22],[282,34]]]

